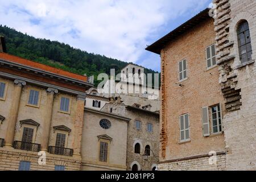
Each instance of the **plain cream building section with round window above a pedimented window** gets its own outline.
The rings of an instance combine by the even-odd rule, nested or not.
[[[121,115],[85,107],[82,170],[126,170],[127,126],[130,119]]]

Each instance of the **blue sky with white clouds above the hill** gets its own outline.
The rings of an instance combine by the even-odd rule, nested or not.
[[[212,0],[0,0],[0,24],[159,71],[144,50]]]

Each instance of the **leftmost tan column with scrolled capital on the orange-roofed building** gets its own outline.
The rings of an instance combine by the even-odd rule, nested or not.
[[[19,110],[19,101],[20,95],[22,93],[22,86],[26,85],[25,81],[14,80],[14,92],[13,92],[13,101],[11,102],[10,107],[10,118],[7,126],[7,133],[5,137],[5,147],[13,147],[15,125],[18,117]]]

